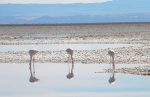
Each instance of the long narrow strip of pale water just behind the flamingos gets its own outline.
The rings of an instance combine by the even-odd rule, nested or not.
[[[60,51],[72,48],[73,50],[99,50],[107,48],[139,46],[140,44],[44,44],[44,45],[0,45],[1,52],[28,51],[36,48],[40,51]]]

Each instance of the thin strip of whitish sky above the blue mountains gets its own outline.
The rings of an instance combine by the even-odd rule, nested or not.
[[[55,3],[102,3],[113,0],[0,0],[0,4],[6,3],[42,3],[42,4],[55,4]]]

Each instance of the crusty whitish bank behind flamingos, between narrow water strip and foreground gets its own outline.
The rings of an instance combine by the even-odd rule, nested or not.
[[[115,48],[115,64],[149,64],[150,45],[131,46]],[[73,58],[75,63],[107,63],[110,64],[108,49],[101,50],[74,50]],[[44,63],[67,62],[66,51],[41,51],[35,56],[35,61]],[[29,62],[29,54],[26,51],[0,52],[0,62],[3,63],[24,63]]]

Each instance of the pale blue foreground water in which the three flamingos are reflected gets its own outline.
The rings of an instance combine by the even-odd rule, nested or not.
[[[138,65],[117,64],[116,68]],[[148,64],[144,64],[148,65]],[[109,73],[95,73],[107,69],[109,64],[75,63],[74,77],[66,76],[70,63],[35,63],[37,83],[29,82],[29,64],[0,64],[1,97],[149,97],[150,77],[115,74],[115,84],[109,84]]]

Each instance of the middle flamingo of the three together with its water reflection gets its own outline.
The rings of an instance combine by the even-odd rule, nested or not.
[[[74,77],[74,74],[73,74],[73,69],[74,69],[74,60],[73,60],[73,50],[68,48],[66,49],[66,52],[68,53],[68,67],[69,67],[69,73],[67,74],[67,78],[68,79],[71,79]],[[72,61],[72,67],[71,67],[71,70],[70,70],[70,64],[69,64],[69,60],[71,59]]]

